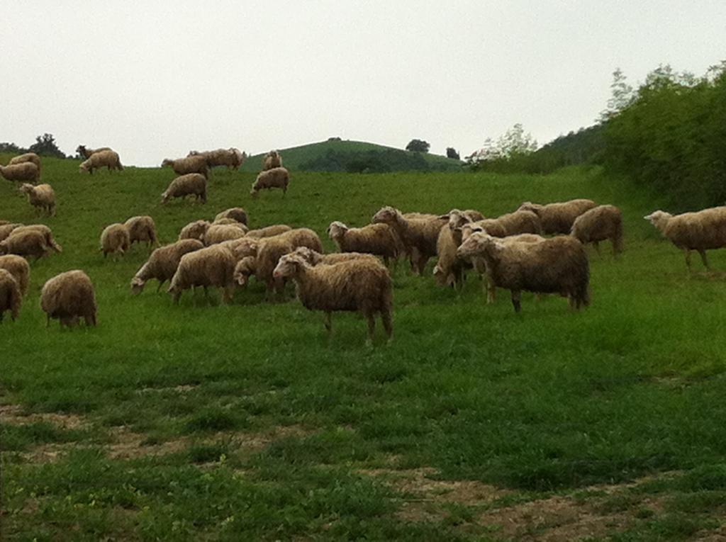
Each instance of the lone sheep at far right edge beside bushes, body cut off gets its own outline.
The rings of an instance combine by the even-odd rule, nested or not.
[[[714,207],[680,215],[656,210],[643,218],[656,226],[676,247],[685,252],[688,271],[690,271],[691,250],[697,250],[703,260],[703,266],[710,269],[706,250],[726,246],[726,207]]]

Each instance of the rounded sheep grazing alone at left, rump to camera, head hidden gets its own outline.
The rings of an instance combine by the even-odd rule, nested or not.
[[[86,321],[86,326],[97,323],[98,305],[93,283],[80,269],[65,271],[49,279],[41,290],[41,308],[46,313],[46,327],[52,318],[68,327],[78,323],[79,318]]]

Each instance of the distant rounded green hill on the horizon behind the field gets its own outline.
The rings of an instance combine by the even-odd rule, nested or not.
[[[242,171],[260,171],[266,153],[245,160]],[[408,152],[364,141],[328,140],[280,149],[282,165],[298,171],[457,171],[463,162],[445,156]]]

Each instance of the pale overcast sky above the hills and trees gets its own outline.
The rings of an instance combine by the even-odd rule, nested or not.
[[[340,136],[462,156],[589,126],[612,71],[703,74],[725,0],[25,1],[2,10],[0,141],[159,165]]]

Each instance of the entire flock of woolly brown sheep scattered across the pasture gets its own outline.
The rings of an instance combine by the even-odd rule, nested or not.
[[[99,167],[122,170],[118,154],[109,148],[78,147],[86,157],[81,171]],[[206,201],[209,169],[224,165],[239,168],[246,155],[237,149],[190,152],[185,158],[164,160],[179,177],[163,193],[162,201],[194,194]],[[253,184],[260,189],[287,189],[289,175],[282,168],[278,152],[264,158],[263,171]],[[37,184],[40,160],[28,153],[0,166],[0,174],[20,185],[28,201],[49,215],[54,214],[52,188]],[[708,267],[705,250],[726,246],[726,208],[698,213],[670,215],[656,211],[645,217],[674,245],[685,251],[690,268],[690,251],[698,250]],[[157,247],[131,279],[131,292],[139,294],[151,279],[158,290],[169,282],[168,292],[178,303],[184,290],[208,287],[221,290],[222,302],[232,298],[234,289],[245,287],[251,276],[266,284],[268,297],[282,293],[285,283],[295,282],[298,299],[311,310],[325,313],[325,327],[331,329],[334,311],[359,311],[368,323],[368,340],[380,315],[390,340],[393,332],[393,287],[389,269],[396,261],[409,261],[415,274],[423,274],[431,258],[437,258],[433,275],[441,286],[462,287],[472,269],[484,279],[488,303],[496,288],[510,290],[515,311],[521,310],[521,292],[558,294],[567,297],[573,308],[590,303],[590,264],[585,250],[610,240],[613,253],[623,248],[622,215],[613,205],[597,205],[592,200],[539,205],[523,203],[512,213],[485,218],[476,210],[452,209],[444,215],[401,213],[381,208],[369,225],[349,228],[340,221],[327,229],[338,252],[324,254],[317,233],[307,228],[293,229],[275,224],[248,228],[248,214],[230,208],[211,221],[197,220],[184,226],[176,242],[158,247],[158,236],[150,216],[134,216],[125,223],[107,226],[100,245],[104,256],[121,254],[134,242]],[[544,236],[553,237],[544,237]],[[41,258],[61,252],[48,226],[0,221],[0,320],[5,311],[17,318],[28,290],[30,266],[25,258]],[[89,277],[80,270],[67,271],[50,279],[41,290],[41,308],[47,320],[60,319],[72,325],[78,319],[96,324],[97,303]]]

